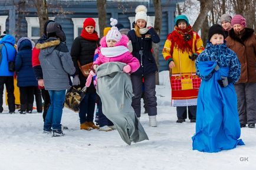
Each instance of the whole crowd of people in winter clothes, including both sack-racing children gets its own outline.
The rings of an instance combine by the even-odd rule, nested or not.
[[[11,35],[0,41],[0,112],[4,84],[9,113],[15,112],[14,70],[20,92],[20,114],[31,112],[34,94],[44,99],[44,132],[63,136],[61,116],[65,92],[70,86],[87,87],[80,102],[80,129],[117,129],[127,144],[148,139],[140,124],[141,98],[149,116],[149,126],[157,126],[155,75],[157,66],[152,42],[159,35],[147,15],[136,8],[133,29],[110,19],[111,27],[99,38],[96,22],[86,18],[81,35],[74,39],[71,52],[65,33],[55,21],[47,21],[37,43]],[[256,123],[256,35],[247,28],[242,15],[221,16],[221,25],[208,31],[204,47],[185,15],[175,18],[175,28],[167,36],[163,58],[169,65],[171,105],[176,106],[177,123],[188,117],[196,122],[193,149],[218,152],[244,145],[241,128]],[[83,68],[90,68],[84,72]],[[72,78],[72,80],[71,80]],[[116,84],[119,82],[119,84]],[[38,100],[42,112],[42,100]],[[41,104],[41,106],[40,106]],[[97,105],[96,105],[97,104]],[[97,106],[99,124],[95,124]],[[40,109],[41,108],[41,109]]]

